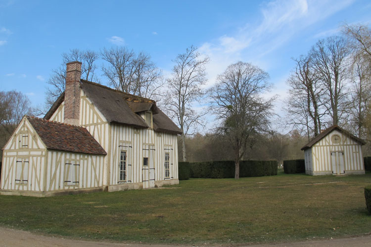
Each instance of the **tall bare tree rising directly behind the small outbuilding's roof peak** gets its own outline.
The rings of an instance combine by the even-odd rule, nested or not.
[[[347,42],[337,36],[318,41],[311,50],[317,80],[322,82],[326,89],[321,100],[331,116],[333,125],[338,124],[345,110],[349,55]]]

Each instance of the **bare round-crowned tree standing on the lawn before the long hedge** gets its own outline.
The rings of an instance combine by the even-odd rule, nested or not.
[[[252,146],[251,137],[270,129],[274,98],[263,97],[271,87],[268,79],[260,68],[237,62],[228,66],[210,89],[211,110],[221,121],[218,129],[234,150],[235,179],[239,178],[239,162],[247,146]]]

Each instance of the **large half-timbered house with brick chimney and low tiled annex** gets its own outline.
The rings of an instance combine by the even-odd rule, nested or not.
[[[155,101],[80,77],[81,63],[67,63],[65,92],[44,119],[24,117],[3,147],[1,194],[178,184],[178,126]]]

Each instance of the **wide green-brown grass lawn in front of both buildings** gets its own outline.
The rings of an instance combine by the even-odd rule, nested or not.
[[[354,176],[190,179],[166,189],[0,196],[0,225],[70,238],[162,244],[267,243],[371,232]]]

